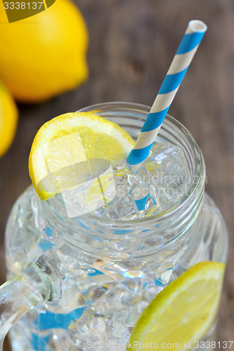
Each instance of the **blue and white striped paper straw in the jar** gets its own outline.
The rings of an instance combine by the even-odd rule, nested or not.
[[[129,164],[141,164],[148,157],[164,117],[171,106],[171,102],[181,85],[181,81],[186,74],[190,62],[193,60],[193,56],[206,30],[207,25],[200,20],[191,20],[188,23],[181,44],[167,72],[167,76],[136,140],[136,145],[127,158]]]

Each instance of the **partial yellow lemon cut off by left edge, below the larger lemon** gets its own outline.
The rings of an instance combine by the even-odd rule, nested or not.
[[[0,157],[11,146],[18,123],[18,109],[11,93],[0,83]]]

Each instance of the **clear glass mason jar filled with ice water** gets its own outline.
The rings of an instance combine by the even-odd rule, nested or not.
[[[113,102],[82,111],[115,121],[137,138],[149,110]],[[200,261],[226,262],[226,225],[204,193],[205,166],[197,143],[169,115],[157,138],[183,147],[196,179],[176,206],[160,216],[108,220],[86,213],[67,218],[63,197],[43,202],[32,186],[16,201],[6,228],[8,278],[36,263],[34,286],[41,291],[41,282],[49,282],[50,293],[42,293],[44,301],[11,328],[13,351],[124,344],[145,307],[167,284]]]

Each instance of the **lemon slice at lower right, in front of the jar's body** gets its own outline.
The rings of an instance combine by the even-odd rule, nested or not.
[[[133,347],[135,351],[141,350],[150,343],[150,348],[165,350],[186,350],[188,344],[192,348],[214,321],[224,269],[223,263],[205,261],[171,282],[141,314],[131,333],[128,350]]]

